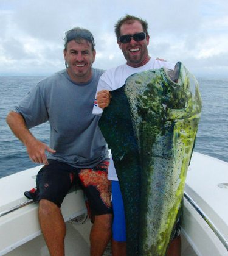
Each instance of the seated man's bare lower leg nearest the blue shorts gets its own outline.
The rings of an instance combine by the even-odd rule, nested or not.
[[[91,256],[102,256],[112,236],[112,215],[96,215],[90,233]]]

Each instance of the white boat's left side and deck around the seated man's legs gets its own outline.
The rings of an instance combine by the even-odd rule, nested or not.
[[[0,212],[28,201],[24,191],[35,187],[35,176],[39,169],[40,166],[0,179]],[[89,255],[91,222],[87,221],[83,227],[69,222],[87,212],[83,191],[73,187],[64,199],[61,210],[67,222],[66,249],[72,251],[77,248],[77,251],[73,250],[72,254],[67,255]],[[1,216],[0,226],[0,255],[49,255],[38,222],[37,202]]]

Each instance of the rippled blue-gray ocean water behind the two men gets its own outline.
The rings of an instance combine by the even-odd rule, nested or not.
[[[0,178],[36,166],[26,147],[13,135],[5,118],[30,87],[43,77],[0,77]],[[196,77],[202,98],[202,113],[195,151],[228,162],[228,79]],[[30,130],[49,143],[49,123]]]

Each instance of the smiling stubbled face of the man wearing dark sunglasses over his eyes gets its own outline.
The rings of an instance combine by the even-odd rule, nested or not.
[[[121,35],[134,35],[139,32],[143,32],[142,24],[139,23],[139,21],[134,21],[134,23],[131,24],[124,23],[120,27]],[[122,50],[126,63],[129,66],[137,68],[145,65],[150,60],[147,49],[149,38],[149,35],[142,41],[134,41],[134,39],[131,38],[130,43],[120,43],[120,41],[117,40],[119,48]]]

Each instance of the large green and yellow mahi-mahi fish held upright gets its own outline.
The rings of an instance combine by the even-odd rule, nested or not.
[[[111,95],[99,126],[122,191],[128,255],[165,255],[201,115],[198,82],[178,62],[133,74]]]

